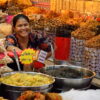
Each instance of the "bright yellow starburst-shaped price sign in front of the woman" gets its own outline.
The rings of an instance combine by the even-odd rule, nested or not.
[[[22,51],[21,56],[19,57],[22,64],[31,64],[33,60],[37,58],[37,51],[34,49],[25,49]]]

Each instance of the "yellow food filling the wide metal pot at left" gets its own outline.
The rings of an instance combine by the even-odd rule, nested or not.
[[[43,86],[54,82],[54,79],[45,74],[15,73],[1,77],[0,81],[12,86]]]

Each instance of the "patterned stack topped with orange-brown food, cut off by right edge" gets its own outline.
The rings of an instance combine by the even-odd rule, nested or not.
[[[100,35],[85,42],[84,66],[95,71],[100,78]]]

